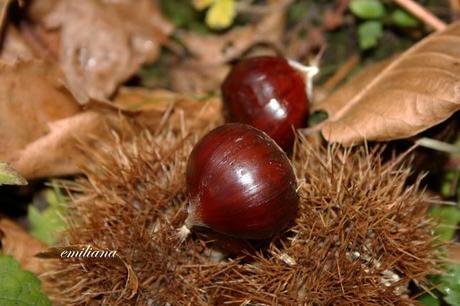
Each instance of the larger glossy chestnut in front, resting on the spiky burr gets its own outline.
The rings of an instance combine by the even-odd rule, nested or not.
[[[186,179],[188,228],[264,239],[286,227],[297,212],[289,159],[269,136],[246,124],[225,124],[204,136],[190,154]]]

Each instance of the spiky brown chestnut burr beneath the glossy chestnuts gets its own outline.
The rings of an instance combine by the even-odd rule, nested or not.
[[[220,109],[213,113],[209,118]],[[199,126],[191,129],[197,137],[205,133]],[[437,244],[419,182],[407,183],[413,172],[401,156],[384,161],[379,150],[317,147],[301,138],[292,159],[300,197],[292,227],[249,258],[216,260],[209,256],[214,239],[173,239],[196,144],[173,127],[134,142],[104,139],[90,151],[92,166],[70,184],[76,189],[65,241],[118,250],[132,270],[111,261],[53,262],[44,277],[57,305],[416,303],[400,289],[436,271]]]

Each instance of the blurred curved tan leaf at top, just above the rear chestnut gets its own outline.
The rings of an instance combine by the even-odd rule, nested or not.
[[[289,1],[279,2],[256,24],[237,27],[223,35],[181,32],[179,38],[200,62],[208,65],[227,63],[255,44],[277,45],[281,42]]]

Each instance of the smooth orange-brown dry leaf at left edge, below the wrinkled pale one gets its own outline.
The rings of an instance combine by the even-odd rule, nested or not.
[[[18,157],[18,151],[48,133],[50,122],[78,112],[55,65],[0,63],[0,159]]]

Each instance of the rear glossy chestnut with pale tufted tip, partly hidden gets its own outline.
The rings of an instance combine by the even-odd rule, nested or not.
[[[242,60],[227,75],[221,89],[229,121],[266,132],[285,150],[294,142],[293,127],[305,125],[305,82],[284,58]]]

